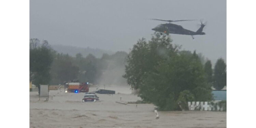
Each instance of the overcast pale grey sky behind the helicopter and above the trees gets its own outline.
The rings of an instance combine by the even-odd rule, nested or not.
[[[204,19],[203,32],[171,34],[182,49],[202,53],[212,63],[226,60],[226,0],[30,0],[30,38],[50,44],[126,51],[151,39],[159,19]],[[196,31],[200,21],[176,22]]]

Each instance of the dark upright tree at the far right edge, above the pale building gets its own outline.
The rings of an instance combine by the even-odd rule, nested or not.
[[[219,58],[214,67],[214,83],[213,86],[217,90],[221,90],[227,85],[226,63],[222,58]]]

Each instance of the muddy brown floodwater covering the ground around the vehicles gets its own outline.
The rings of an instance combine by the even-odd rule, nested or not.
[[[100,89],[104,87],[100,86]],[[158,112],[153,104],[121,104],[140,100],[129,87],[106,86],[116,94],[97,94],[99,101],[82,102],[84,93],[49,91],[49,100],[30,92],[31,128],[225,128],[226,112]],[[96,87],[90,87],[90,91]],[[120,100],[121,99],[121,100]],[[136,106],[137,105],[137,106]]]

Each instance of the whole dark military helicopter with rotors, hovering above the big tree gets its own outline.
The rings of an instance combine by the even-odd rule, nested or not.
[[[201,22],[201,27],[196,31],[191,31],[191,30],[187,30],[184,29],[182,26],[180,25],[176,25],[176,24],[171,24],[171,22],[181,22],[181,21],[191,21],[191,19],[183,19],[183,20],[163,20],[163,19],[152,19],[152,20],[160,20],[160,21],[165,21],[165,22],[169,22],[166,24],[160,24],[158,26],[156,26],[155,28],[153,28],[152,30],[160,32],[160,34],[162,33],[173,33],[173,34],[182,34],[182,35],[191,35],[191,37],[193,39],[195,39],[193,37],[193,35],[204,35],[205,33],[202,32],[203,31],[203,27],[205,26],[205,23],[203,24],[202,21]],[[195,19],[192,19],[195,20]]]

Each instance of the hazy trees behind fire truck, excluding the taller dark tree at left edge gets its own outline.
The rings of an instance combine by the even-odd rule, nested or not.
[[[127,53],[125,52],[116,52],[113,55],[103,54],[102,58],[96,58],[92,54],[83,57],[81,53],[77,53],[75,57],[72,57],[68,54],[54,53],[53,65],[50,71],[52,76],[51,84],[62,84],[71,80],[98,84],[100,78],[106,75],[122,78],[122,73],[111,73],[111,75],[104,73],[108,73],[107,70],[119,69],[117,67],[124,69],[126,57]]]

